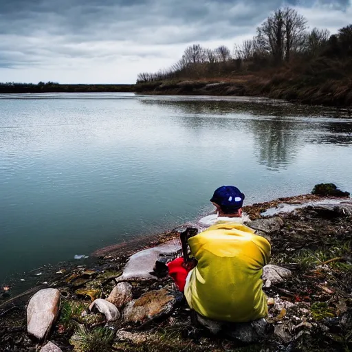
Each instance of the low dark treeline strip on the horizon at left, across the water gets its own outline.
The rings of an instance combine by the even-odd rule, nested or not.
[[[0,94],[5,93],[89,93],[134,91],[134,85],[60,85],[54,82],[0,83]]]

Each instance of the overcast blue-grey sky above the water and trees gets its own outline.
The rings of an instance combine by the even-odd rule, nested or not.
[[[352,23],[350,0],[289,0],[310,28]],[[190,43],[251,38],[280,0],[0,0],[0,82],[134,83]]]

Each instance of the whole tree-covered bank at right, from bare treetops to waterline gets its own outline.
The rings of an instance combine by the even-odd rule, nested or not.
[[[206,49],[190,45],[169,69],[142,72],[136,91],[154,94],[268,96],[303,103],[352,104],[352,25],[309,31],[292,8],[279,8],[252,40]]]

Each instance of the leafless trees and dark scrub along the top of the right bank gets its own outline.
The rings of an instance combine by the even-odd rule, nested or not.
[[[137,83],[164,80],[217,78],[279,67],[296,59],[352,57],[352,25],[331,35],[326,29],[308,30],[307,19],[293,8],[279,8],[256,29],[253,39],[228,47],[206,49],[200,44],[186,48],[175,65],[158,72],[142,72]]]

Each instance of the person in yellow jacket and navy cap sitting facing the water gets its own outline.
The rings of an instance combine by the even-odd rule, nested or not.
[[[251,322],[267,316],[262,275],[271,247],[242,223],[244,197],[234,186],[215,190],[210,201],[216,221],[199,234],[191,228],[183,232],[183,258],[168,263],[188,305],[203,318]]]

